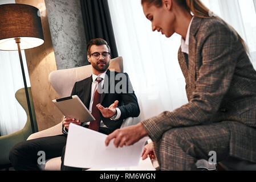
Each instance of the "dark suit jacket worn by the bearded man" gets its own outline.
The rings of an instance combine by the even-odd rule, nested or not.
[[[124,93],[117,93],[116,89],[113,89],[113,85],[117,85],[119,80],[113,80],[111,79],[111,74],[117,76],[117,74],[120,74],[121,76],[125,77],[125,82],[127,83],[127,89]],[[120,76],[119,75],[119,76]],[[137,102],[137,97],[135,96],[135,93],[132,89],[131,82],[129,81],[129,77],[127,73],[118,73],[118,72],[110,72],[109,70],[106,72],[106,76],[108,76],[108,81],[104,79],[103,88],[106,84],[108,84],[108,93],[102,93],[101,94],[101,102],[100,104],[103,107],[109,107],[111,104],[113,104],[116,100],[119,101],[117,107],[121,111],[121,117],[117,121],[112,121],[110,118],[104,118],[103,115],[101,115],[101,120],[103,123],[110,129],[111,131],[114,131],[116,129],[119,129],[121,124],[123,123],[123,120],[128,117],[138,117],[140,114],[140,107]],[[114,84],[113,84],[114,82]],[[128,85],[130,87],[128,87]],[[117,85],[119,86],[119,85]],[[84,105],[89,109],[90,101],[91,101],[91,88],[92,88],[92,76],[82,80],[75,82],[75,85],[72,89],[71,96],[77,95],[80,100],[84,103]],[[112,92],[111,92],[112,91]],[[64,126],[62,126],[63,130]]]

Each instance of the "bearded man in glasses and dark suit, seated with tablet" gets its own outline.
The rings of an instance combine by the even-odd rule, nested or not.
[[[16,170],[39,170],[37,166],[39,151],[45,152],[46,159],[62,156],[62,170],[82,170],[63,165],[70,123],[110,134],[120,128],[125,118],[139,116],[139,104],[127,73],[117,73],[108,69],[110,51],[107,42],[103,39],[93,39],[87,44],[92,76],[76,82],[71,93],[71,96],[77,95],[80,98],[96,120],[82,124],[75,118],[64,118],[63,135],[18,143],[10,151],[9,156]]]

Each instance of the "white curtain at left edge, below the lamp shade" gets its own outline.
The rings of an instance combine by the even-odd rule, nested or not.
[[[27,86],[30,86],[25,53],[22,51]],[[15,98],[15,92],[24,88],[18,51],[0,51],[0,132],[1,135],[22,129],[27,115]]]

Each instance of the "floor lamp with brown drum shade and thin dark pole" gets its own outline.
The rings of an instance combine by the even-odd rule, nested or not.
[[[0,5],[0,50],[19,52],[32,133],[35,133],[35,128],[21,50],[38,47],[43,43],[40,12],[36,7],[18,3]]]

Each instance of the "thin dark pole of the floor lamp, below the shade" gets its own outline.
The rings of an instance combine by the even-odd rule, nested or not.
[[[26,97],[27,97],[27,107],[29,108],[31,129],[32,129],[32,133],[35,133],[34,121],[32,118],[32,110],[31,110],[31,105],[30,105],[30,100],[29,100],[29,92],[27,90],[27,81],[26,81],[26,76],[25,76],[25,71],[24,71],[23,61],[22,61],[22,55],[21,55],[21,47],[19,45],[21,43],[21,38],[15,38],[15,42],[17,43],[18,51],[19,51],[19,61],[21,62],[21,71],[22,71],[23,82],[24,82],[24,86],[25,86],[25,93],[26,93]]]

